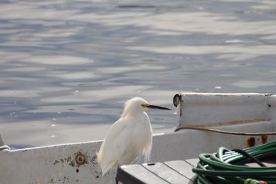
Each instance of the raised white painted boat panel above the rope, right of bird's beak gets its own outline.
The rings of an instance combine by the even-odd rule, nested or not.
[[[275,95],[181,93],[179,96],[177,126],[275,118]]]

